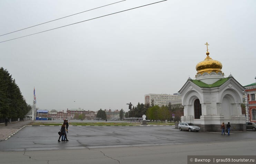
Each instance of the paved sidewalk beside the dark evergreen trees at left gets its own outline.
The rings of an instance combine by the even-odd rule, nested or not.
[[[7,126],[4,126],[4,124],[0,124],[0,141],[5,140],[11,134],[16,132],[20,128],[24,127],[25,125],[28,125],[30,122],[32,121],[27,120],[27,121],[8,122]]]

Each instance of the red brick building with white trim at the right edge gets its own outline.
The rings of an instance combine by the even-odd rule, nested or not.
[[[245,87],[246,121],[256,122],[256,98],[255,98],[256,83],[252,83],[244,87]]]

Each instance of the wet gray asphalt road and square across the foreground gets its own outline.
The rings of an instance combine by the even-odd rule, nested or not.
[[[0,163],[187,163],[187,155],[255,155],[254,131],[179,131],[174,126],[27,126],[0,142]]]

